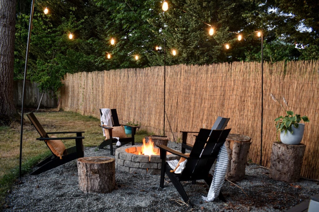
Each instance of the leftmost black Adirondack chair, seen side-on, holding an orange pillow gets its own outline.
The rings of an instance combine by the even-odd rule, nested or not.
[[[27,114],[27,117],[29,118],[29,120],[31,121],[32,125],[35,127],[35,129],[38,131],[38,133],[40,134],[40,138],[37,138],[37,140],[43,140],[47,146],[48,145],[48,141],[49,140],[60,140],[59,142],[62,142],[61,140],[75,140],[75,144],[76,146],[74,147],[70,147],[68,149],[65,149],[62,157],[58,157],[56,154],[54,154],[54,152],[52,151],[52,149],[49,147],[49,149],[52,152],[52,155],[49,156],[48,158],[44,159],[43,161],[41,161],[39,164],[36,165],[36,167],[39,167],[38,169],[36,169],[35,171],[33,171],[31,174],[40,174],[42,172],[48,171],[52,168],[58,167],[64,163],[73,161],[77,158],[81,158],[84,157],[84,148],[83,148],[83,139],[84,136],[82,136],[82,133],[84,132],[52,132],[52,133],[47,133],[43,127],[41,126],[40,122],[37,120],[37,118],[35,117],[35,115],[33,113],[29,113]],[[52,137],[50,138],[48,136],[48,134],[62,134],[62,133],[72,133],[72,134],[76,134],[76,136],[72,136],[72,137]]]

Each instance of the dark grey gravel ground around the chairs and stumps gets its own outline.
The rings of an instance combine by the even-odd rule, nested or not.
[[[180,150],[180,144],[169,142]],[[108,156],[109,148],[85,147],[85,156]],[[183,183],[193,208],[181,197],[169,179],[159,188],[159,175],[115,171],[116,189],[108,194],[83,193],[78,188],[76,161],[39,175],[26,175],[7,196],[3,211],[285,211],[319,193],[318,182],[274,181],[268,169],[256,164],[246,167],[245,179],[225,181],[221,192],[227,202],[204,202],[209,186],[204,181]]]

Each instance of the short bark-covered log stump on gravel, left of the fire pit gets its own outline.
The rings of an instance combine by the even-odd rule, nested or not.
[[[79,188],[85,193],[108,193],[115,187],[115,159],[78,158]]]

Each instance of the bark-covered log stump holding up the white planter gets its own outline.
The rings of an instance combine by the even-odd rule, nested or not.
[[[270,156],[269,177],[277,181],[298,181],[305,149],[304,144],[288,145],[274,142]]]

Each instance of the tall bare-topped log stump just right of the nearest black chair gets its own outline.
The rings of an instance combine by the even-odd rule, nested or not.
[[[247,156],[249,153],[251,138],[246,135],[230,133],[225,141],[228,153],[228,168],[226,179],[240,181],[245,177]]]

